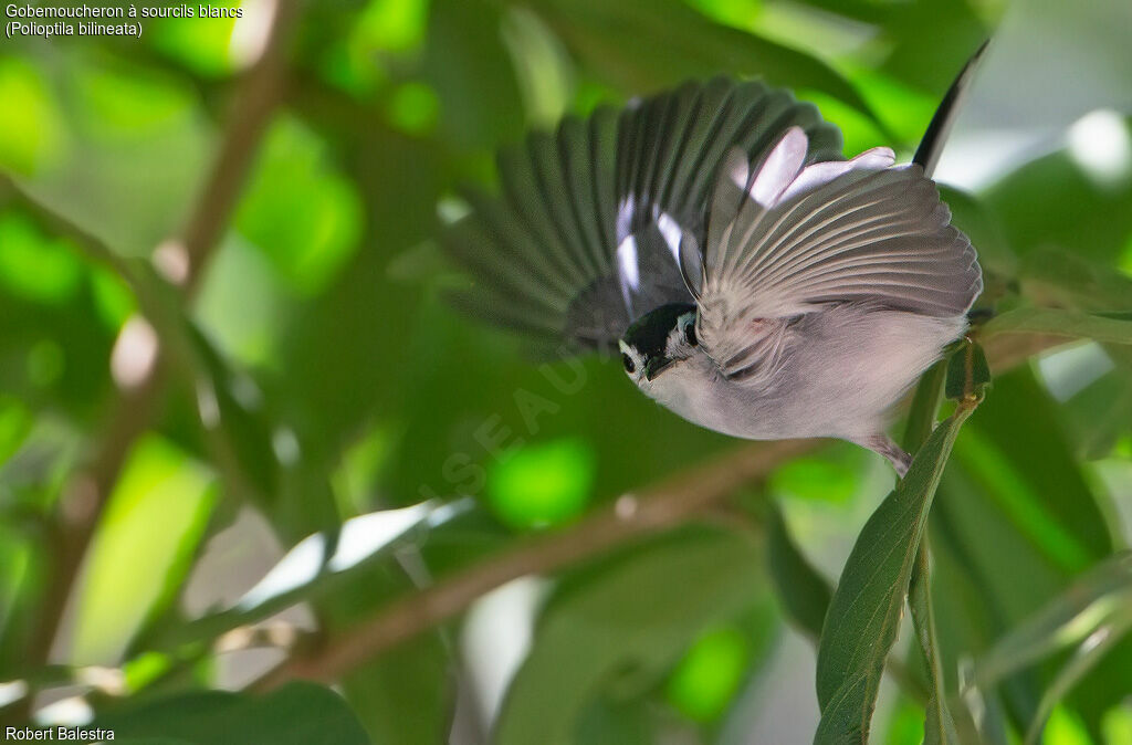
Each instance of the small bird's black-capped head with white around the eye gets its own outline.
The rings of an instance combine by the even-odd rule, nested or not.
[[[651,387],[661,375],[696,353],[696,307],[674,302],[638,318],[619,346],[625,373],[637,386]]]

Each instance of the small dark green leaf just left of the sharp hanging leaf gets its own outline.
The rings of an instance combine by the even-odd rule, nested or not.
[[[821,637],[822,623],[830,607],[830,584],[794,542],[777,505],[771,507],[767,519],[766,558],[771,581],[787,615],[815,640]]]

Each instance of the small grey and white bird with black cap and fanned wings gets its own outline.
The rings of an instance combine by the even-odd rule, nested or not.
[[[738,438],[832,437],[887,459],[892,410],[967,329],[976,249],[931,174],[980,48],[916,155],[846,160],[813,104],[720,76],[567,117],[500,152],[441,243],[460,309]]]

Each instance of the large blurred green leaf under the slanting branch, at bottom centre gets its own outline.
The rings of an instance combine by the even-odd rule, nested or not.
[[[494,742],[576,742],[583,712],[606,686],[650,688],[697,634],[749,606],[757,566],[746,539],[696,531],[567,582],[539,620]]]

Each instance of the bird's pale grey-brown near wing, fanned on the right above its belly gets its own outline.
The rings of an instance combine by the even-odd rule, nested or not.
[[[700,343],[726,375],[765,368],[755,342],[830,303],[954,317],[981,290],[975,249],[919,165],[892,168],[887,148],[805,165],[805,152],[791,129],[761,161],[735,153],[720,171],[689,286]]]

